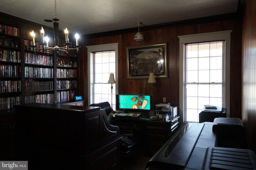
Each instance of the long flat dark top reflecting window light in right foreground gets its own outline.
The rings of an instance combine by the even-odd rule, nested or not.
[[[147,170],[201,170],[208,147],[216,135],[212,122],[185,123],[146,164]]]

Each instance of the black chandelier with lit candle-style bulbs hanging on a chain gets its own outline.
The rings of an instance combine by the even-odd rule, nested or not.
[[[54,28],[54,44],[55,46],[54,47],[49,47],[48,46],[48,36],[44,37],[44,28],[41,27],[41,31],[40,31],[40,35],[41,35],[41,43],[40,45],[43,46],[43,49],[38,49],[36,48],[37,46],[35,45],[35,33],[34,33],[34,30],[30,33],[32,39],[33,39],[33,42],[30,47],[32,47],[34,49],[34,51],[36,50],[43,50],[44,53],[48,53],[48,51],[66,51],[67,53],[70,51],[70,50],[76,50],[76,52],[79,51],[79,48],[81,46],[78,45],[78,38],[79,38],[79,35],[78,33],[75,34],[75,38],[76,38],[76,45],[74,46],[74,48],[70,48],[69,45],[71,44],[69,42],[69,39],[68,39],[68,29],[66,28],[64,30],[64,33],[65,33],[65,39],[66,39],[66,42],[63,44],[64,46],[63,47],[59,47],[58,46],[58,31],[59,31],[59,19],[57,19],[57,5],[56,5],[56,0],[55,0],[55,6],[54,6],[54,12],[55,12],[55,18],[53,18],[52,20],[44,20],[46,22],[52,22],[53,21],[53,28]]]

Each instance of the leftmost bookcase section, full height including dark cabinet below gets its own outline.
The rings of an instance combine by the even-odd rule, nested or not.
[[[0,22],[0,159],[13,156],[14,106],[22,103],[20,27]]]

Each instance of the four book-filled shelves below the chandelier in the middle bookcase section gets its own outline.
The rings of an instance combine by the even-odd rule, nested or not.
[[[54,103],[53,56],[26,51],[24,60],[24,103]]]

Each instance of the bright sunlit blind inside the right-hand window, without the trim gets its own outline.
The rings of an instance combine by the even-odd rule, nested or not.
[[[199,122],[204,105],[225,106],[225,41],[184,45],[184,121]]]

